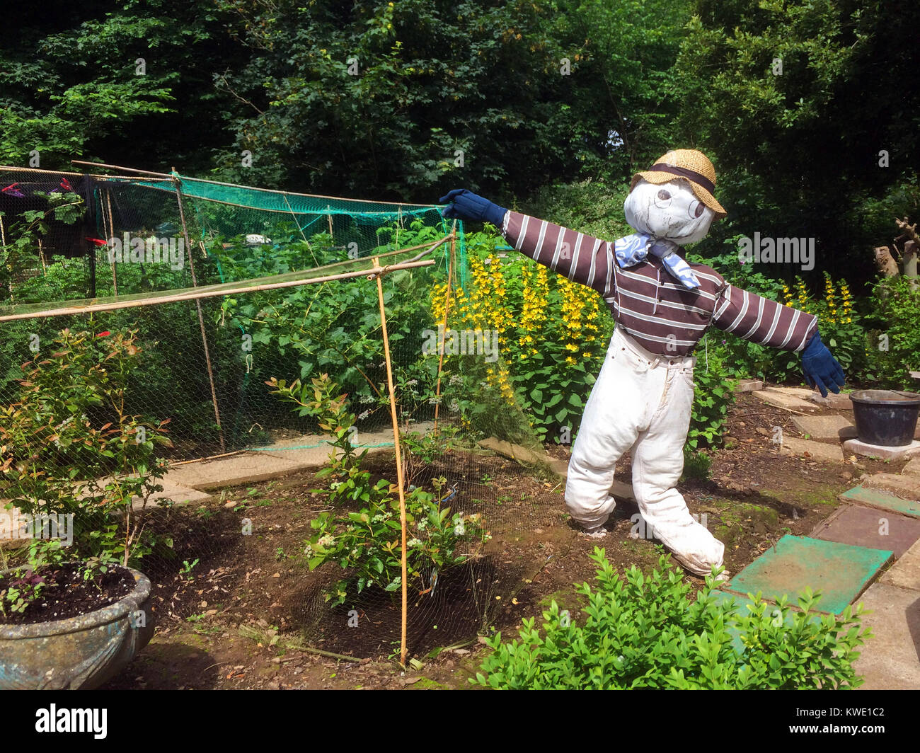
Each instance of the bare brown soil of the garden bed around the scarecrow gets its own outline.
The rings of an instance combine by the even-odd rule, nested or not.
[[[885,465],[860,460],[861,468],[834,467],[779,455],[756,429],[780,425],[793,432],[790,417],[739,396],[727,432],[736,445],[715,453],[709,480],[679,484],[691,512],[706,514],[707,525],[726,542],[730,572],[740,571],[787,533],[810,533],[834,511],[836,495],[852,485],[854,476]],[[441,470],[462,468],[462,461],[460,453],[443,461]],[[384,475],[392,468],[388,455],[368,462],[369,469]],[[296,557],[310,535],[309,521],[326,509],[325,497],[310,491],[320,482],[302,472],[225,490],[197,511],[170,513],[178,557],[149,568],[156,584],[157,634],[109,687],[396,688],[406,678],[413,688],[462,687],[477,666],[481,646],[474,633],[482,631],[484,615],[492,629],[513,633],[522,618],[539,615],[554,598],[577,608],[572,585],[592,578],[588,554],[597,543],[621,571],[631,564],[650,568],[657,561],[654,542],[628,538],[635,504],[617,505],[606,539],[585,539],[566,515],[562,485],[534,478],[502,458],[477,458],[477,464],[485,469],[477,497],[493,511],[487,521],[493,538],[481,558],[445,577],[433,598],[410,594],[410,655],[425,664],[421,673],[404,673],[387,661],[397,648],[398,601],[367,599],[357,629],[347,628],[348,608],[318,608],[324,578],[336,573],[309,573]],[[617,477],[628,481],[628,460],[622,466]],[[251,536],[239,535],[243,518],[252,521]],[[181,562],[196,558],[190,572],[181,572]],[[472,598],[477,579],[483,592]],[[698,578],[691,580],[702,585]],[[489,608],[483,606],[487,602]],[[464,645],[438,652],[457,643]],[[302,650],[307,644],[353,655],[354,661],[307,653]],[[415,682],[422,674],[425,678]]]

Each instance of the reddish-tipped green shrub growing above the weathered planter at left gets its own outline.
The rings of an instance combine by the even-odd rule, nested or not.
[[[90,322],[90,325],[92,322]],[[136,330],[63,330],[48,355],[22,365],[17,400],[0,408],[0,497],[29,516],[73,515],[72,549],[33,539],[30,562],[138,562],[155,545],[144,501],[163,487],[167,421],[126,411]]]

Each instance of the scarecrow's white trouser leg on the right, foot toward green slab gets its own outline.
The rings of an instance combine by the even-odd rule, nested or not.
[[[722,564],[725,546],[687,510],[674,485],[684,470],[684,442],[693,406],[693,368],[670,371],[661,406],[641,432],[632,454],[633,491],[639,512],[674,558],[692,573],[705,575]]]

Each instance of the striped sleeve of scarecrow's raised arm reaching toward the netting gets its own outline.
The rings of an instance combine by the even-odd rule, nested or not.
[[[501,233],[514,249],[604,298],[614,292],[614,245],[527,214],[505,214]]]

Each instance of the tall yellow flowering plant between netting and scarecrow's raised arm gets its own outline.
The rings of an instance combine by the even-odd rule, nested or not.
[[[466,369],[482,377],[482,400],[466,410],[489,421],[501,412],[525,415],[541,438],[568,441],[612,330],[604,302],[590,288],[513,253],[494,231],[466,242],[469,284],[454,291],[449,326],[495,333],[499,356],[478,371],[466,356]],[[445,288],[432,292],[435,320],[443,320]]]

